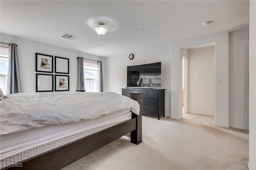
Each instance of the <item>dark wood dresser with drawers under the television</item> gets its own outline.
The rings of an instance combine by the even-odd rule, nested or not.
[[[122,88],[122,95],[130,97],[130,92],[142,92],[142,114],[164,117],[164,90],[148,88]]]

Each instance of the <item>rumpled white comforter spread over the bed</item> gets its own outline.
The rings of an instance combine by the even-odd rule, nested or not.
[[[114,92],[42,92],[11,94],[0,101],[1,135],[45,125],[74,123],[131,108],[138,102]]]

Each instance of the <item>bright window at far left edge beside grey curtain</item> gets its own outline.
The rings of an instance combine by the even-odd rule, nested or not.
[[[9,48],[0,46],[0,88],[6,94]]]

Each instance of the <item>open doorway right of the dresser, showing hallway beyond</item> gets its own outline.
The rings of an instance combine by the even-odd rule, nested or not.
[[[182,117],[185,119],[214,124],[214,49],[214,45],[208,45],[182,51]]]

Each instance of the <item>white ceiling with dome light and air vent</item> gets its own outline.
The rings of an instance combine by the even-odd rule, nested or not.
[[[2,33],[102,57],[249,28],[248,0],[1,0],[0,8]],[[109,28],[102,37],[99,21]]]

